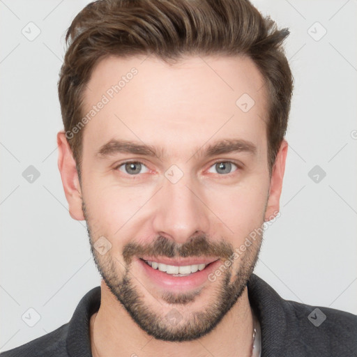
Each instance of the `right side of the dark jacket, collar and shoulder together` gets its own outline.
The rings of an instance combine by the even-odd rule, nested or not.
[[[284,300],[255,274],[248,296],[267,356],[357,356],[357,315]]]

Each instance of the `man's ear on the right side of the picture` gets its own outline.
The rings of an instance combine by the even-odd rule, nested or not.
[[[280,210],[280,195],[282,193],[285,161],[287,160],[287,148],[287,141],[283,139],[272,168],[269,197],[264,218],[265,221],[273,219]]]

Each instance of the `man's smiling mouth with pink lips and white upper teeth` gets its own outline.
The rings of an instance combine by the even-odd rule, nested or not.
[[[146,278],[165,289],[182,291],[200,287],[208,281],[208,274],[218,268],[218,258],[169,259],[141,257],[139,264]]]

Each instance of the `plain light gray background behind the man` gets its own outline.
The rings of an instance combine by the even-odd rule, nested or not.
[[[0,0],[1,351],[66,324],[100,284],[85,222],[68,214],[56,149],[64,33],[88,2]],[[290,28],[295,77],[281,217],[255,273],[283,298],[357,314],[357,2],[253,3]],[[22,34],[36,33],[29,22],[40,29],[33,41]],[[327,31],[319,40],[316,22]],[[22,176],[29,165],[40,172],[33,183]],[[319,183],[308,176],[315,165],[326,172]],[[31,307],[33,327],[22,320],[36,322]]]

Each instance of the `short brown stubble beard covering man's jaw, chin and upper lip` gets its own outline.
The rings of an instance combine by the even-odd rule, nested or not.
[[[233,271],[234,264],[231,264],[229,268],[221,269],[222,273],[220,278],[215,282],[208,282],[203,289],[196,291],[190,291],[188,293],[174,294],[172,292],[165,292],[160,296],[158,301],[158,307],[155,308],[149,305],[145,295],[148,291],[144,289],[144,293],[140,292],[138,287],[142,287],[139,283],[135,286],[137,278],[132,276],[130,272],[131,257],[135,255],[135,248],[137,250],[145,250],[145,248],[137,247],[137,245],[127,245],[124,248],[123,257],[124,263],[121,263],[119,259],[112,257],[110,251],[105,255],[100,255],[94,248],[95,241],[93,240],[93,234],[91,232],[91,224],[86,214],[86,206],[83,203],[84,217],[86,218],[87,231],[89,234],[89,241],[91,245],[91,253],[96,263],[96,267],[107,284],[107,287],[116,297],[116,299],[123,305],[130,317],[135,323],[142,328],[148,335],[153,336],[157,340],[169,341],[169,342],[183,342],[196,340],[199,337],[206,335],[213,331],[213,329],[220,323],[225,317],[227,312],[237,303],[238,299],[242,296],[243,291],[247,285],[250,276],[252,275],[255,265],[259,257],[261,248],[261,240],[257,239],[250,247],[245,250],[238,259],[240,259],[239,268]],[[176,245],[172,241],[167,241],[167,238],[158,237],[155,241],[155,245],[150,245],[150,252],[168,252],[167,256],[195,256],[197,250],[195,250],[195,244],[199,250],[202,250],[202,244],[210,245],[205,239],[196,240],[192,239],[190,245],[185,247],[183,245]],[[223,244],[223,243],[222,243]],[[134,247],[134,250],[133,250]],[[227,254],[227,244],[222,247]],[[191,251],[190,251],[191,250]],[[207,246],[207,250],[208,246]],[[217,250],[217,249],[215,249]],[[126,252],[130,251],[130,257],[126,256]],[[179,255],[176,255],[179,252]],[[158,254],[159,255],[159,254]],[[231,246],[231,255],[233,255],[233,247]],[[225,257],[227,259],[227,257]],[[224,259],[222,259],[222,266],[224,266]],[[118,268],[121,264],[124,267],[124,273],[118,273]],[[120,276],[122,275],[122,277]],[[232,277],[233,276],[233,277]],[[211,284],[215,284],[213,289]],[[183,307],[188,307],[190,303],[195,302],[200,298],[201,294],[204,294],[206,289],[211,290],[208,302],[200,311],[193,311],[192,313],[184,314],[180,312]],[[169,305],[169,312],[162,313],[162,310],[167,308],[162,307],[163,301],[165,305]],[[168,305],[167,305],[168,306]],[[183,317],[183,315],[185,317]]]

